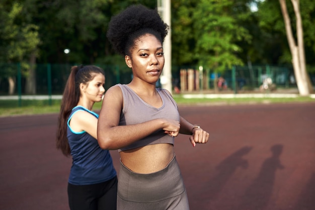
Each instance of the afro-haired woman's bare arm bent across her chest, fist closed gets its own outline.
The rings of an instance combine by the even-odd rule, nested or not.
[[[104,96],[97,126],[98,142],[102,149],[115,150],[126,147],[159,129],[177,136],[180,123],[168,119],[154,119],[135,125],[119,126],[123,96],[119,86],[109,88]]]

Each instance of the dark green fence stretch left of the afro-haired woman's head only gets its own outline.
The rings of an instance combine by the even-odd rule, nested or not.
[[[131,81],[132,72],[127,67],[97,65],[104,69],[105,89],[117,83]],[[34,70],[35,94],[62,94],[70,73],[69,64],[36,64]],[[27,92],[29,71],[21,64],[0,64],[0,95],[33,94]]]

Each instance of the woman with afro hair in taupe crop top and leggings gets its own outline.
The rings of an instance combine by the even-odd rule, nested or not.
[[[189,209],[174,138],[190,135],[195,147],[209,134],[179,115],[168,90],[155,87],[168,29],[156,10],[141,5],[109,23],[107,37],[133,74],[129,84],[108,89],[98,122],[100,147],[120,154],[117,209]]]

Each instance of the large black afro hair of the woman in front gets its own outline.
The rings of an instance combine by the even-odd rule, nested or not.
[[[152,34],[163,44],[169,26],[164,23],[157,10],[142,5],[133,5],[112,17],[109,22],[107,38],[114,50],[125,56],[135,41],[145,35]]]

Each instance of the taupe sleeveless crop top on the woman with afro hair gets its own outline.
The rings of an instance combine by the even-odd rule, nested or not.
[[[133,125],[143,123],[149,120],[166,118],[180,121],[177,103],[173,97],[164,89],[156,88],[162,98],[162,106],[155,108],[143,101],[130,87],[125,84],[117,84],[123,94],[123,110],[120,114],[119,125]],[[152,144],[173,144],[174,137],[165,134],[164,131],[158,130],[151,135],[140,139],[118,151],[130,150],[137,147]]]

